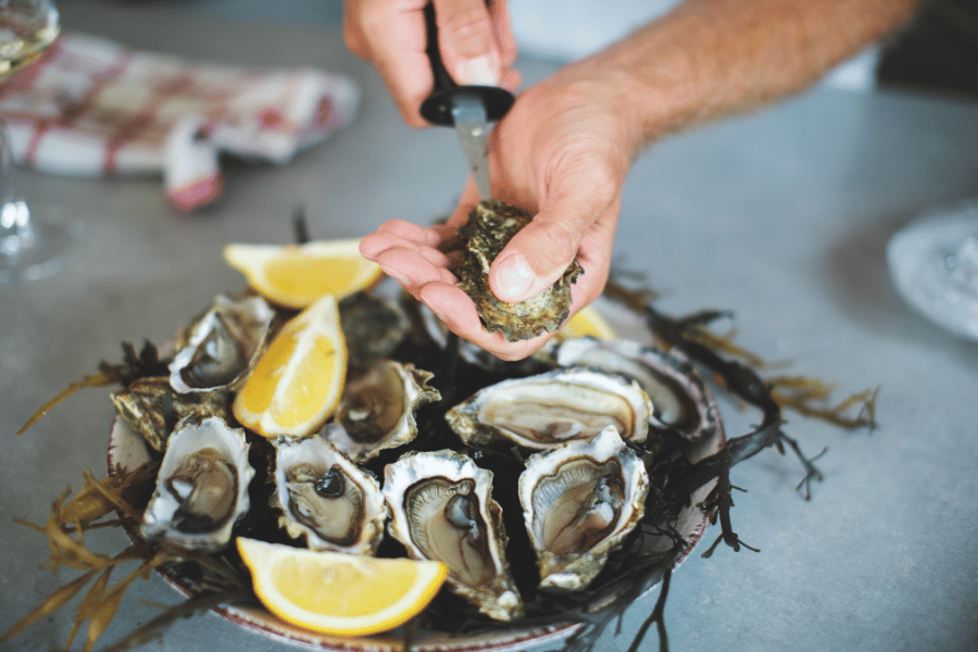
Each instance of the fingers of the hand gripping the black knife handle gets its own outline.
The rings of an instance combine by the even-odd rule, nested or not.
[[[423,10],[428,0],[347,0],[343,39],[384,78],[401,115],[412,127],[427,123],[418,112],[435,78],[425,53]],[[438,45],[446,70],[460,86],[501,86],[515,91],[519,73],[516,41],[505,0],[434,0]]]

